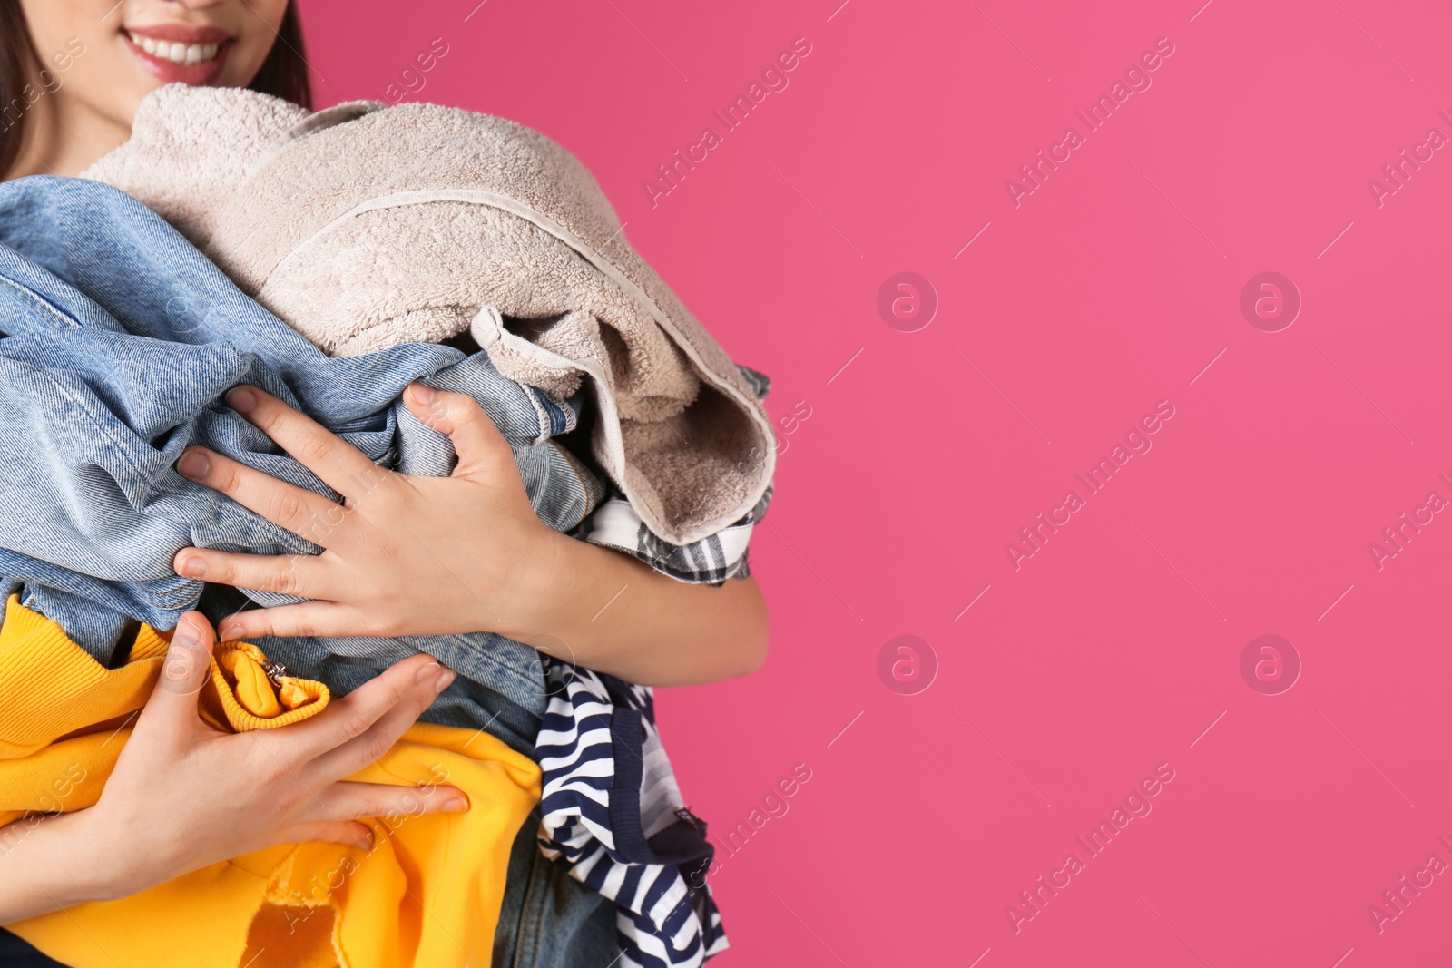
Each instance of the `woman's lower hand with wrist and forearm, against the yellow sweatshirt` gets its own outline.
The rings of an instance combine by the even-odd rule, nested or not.
[[[200,612],[182,617],[94,807],[3,834],[0,923],[126,897],[279,843],[372,849],[362,819],[468,810],[453,787],[344,781],[388,752],[453,672],[414,656],[302,723],[219,733],[197,715],[212,639]]]

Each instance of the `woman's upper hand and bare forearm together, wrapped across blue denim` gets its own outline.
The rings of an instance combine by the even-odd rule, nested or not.
[[[177,470],[324,549],[317,556],[183,549],[179,575],[314,601],[222,620],[224,639],[495,631],[642,685],[711,682],[761,665],[767,610],[755,579],[687,585],[552,530],[514,453],[463,393],[412,385],[404,402],[447,434],[450,477],[373,464],[254,387],[227,402],[341,493],[344,505],[200,447]]]

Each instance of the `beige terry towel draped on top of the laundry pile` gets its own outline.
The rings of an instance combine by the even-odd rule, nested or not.
[[[511,379],[588,386],[597,460],[666,541],[714,534],[771,480],[771,424],[741,373],[536,131],[174,84],[84,177],[158,212],[325,353],[468,329]]]

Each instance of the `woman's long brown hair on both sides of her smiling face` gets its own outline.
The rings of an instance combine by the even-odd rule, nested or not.
[[[308,62],[303,57],[298,4],[289,3],[277,30],[277,41],[267,52],[257,77],[247,87],[311,109],[312,86],[308,83]],[[42,64],[30,42],[20,0],[0,0],[0,179],[20,157],[28,115],[23,91],[39,67]],[[6,112],[16,102],[22,107],[15,112],[15,120],[6,125],[10,120]]]

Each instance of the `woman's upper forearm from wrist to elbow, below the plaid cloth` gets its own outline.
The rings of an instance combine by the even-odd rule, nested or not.
[[[755,672],[767,605],[754,578],[690,585],[627,554],[565,538],[539,634],[558,659],[640,685],[696,685]]]

